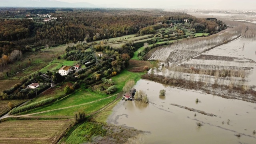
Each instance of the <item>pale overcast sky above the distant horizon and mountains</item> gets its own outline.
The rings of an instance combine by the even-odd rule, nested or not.
[[[71,2],[71,0],[58,0]],[[256,9],[256,0],[72,0],[95,5],[123,6],[128,8],[207,8]]]

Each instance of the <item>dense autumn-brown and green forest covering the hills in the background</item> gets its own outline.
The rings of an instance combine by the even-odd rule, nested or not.
[[[20,9],[18,9],[20,10]],[[63,10],[63,11],[61,11]],[[15,10],[13,10],[15,11]],[[31,48],[57,46],[78,41],[93,41],[128,34],[154,34],[158,28],[169,24],[191,23],[196,32],[218,32],[226,25],[216,19],[198,19],[186,13],[164,12],[162,10],[111,10],[83,9],[60,10],[30,9],[16,15],[50,13],[57,20],[35,22],[25,17],[9,19],[12,12],[0,13],[0,56],[8,56],[13,50],[29,51]],[[58,12],[57,12],[58,11]],[[158,26],[155,26],[158,24]],[[159,25],[161,24],[161,25]]]

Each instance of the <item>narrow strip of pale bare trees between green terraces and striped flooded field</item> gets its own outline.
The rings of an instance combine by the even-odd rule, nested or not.
[[[240,33],[238,31],[230,29],[229,31],[208,37],[182,40],[171,46],[156,50],[148,60],[160,60],[175,66],[201,54],[217,44],[224,44],[224,42],[228,40],[237,38],[239,35]]]

